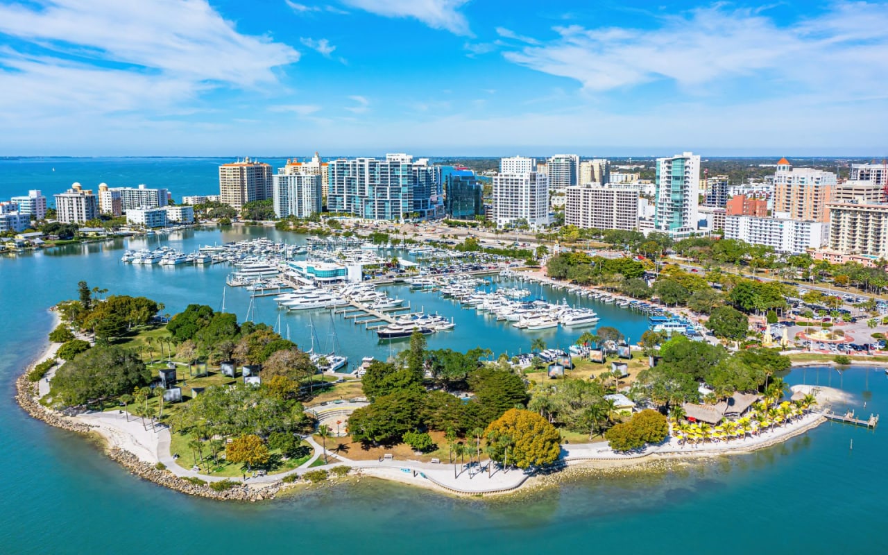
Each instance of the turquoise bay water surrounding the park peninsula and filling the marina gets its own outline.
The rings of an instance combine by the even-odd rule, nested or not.
[[[255,233],[258,230],[187,232],[169,241],[181,242],[187,250],[198,243],[235,241]],[[262,233],[277,236],[273,230]],[[232,504],[182,496],[138,480],[96,446],[31,419],[12,400],[14,377],[45,345],[51,325],[45,307],[72,297],[78,280],[155,297],[166,303],[168,312],[189,302],[214,307],[221,302],[226,268],[123,265],[118,260],[126,246],[124,241],[76,245],[0,258],[4,553],[157,553],[170,551],[170,546],[182,552],[393,554],[888,551],[888,535],[881,528],[888,487],[884,430],[842,424],[823,424],[746,456],[573,480],[512,500],[451,499],[361,480],[352,487],[313,489],[271,503]],[[432,348],[480,344],[496,352],[516,352],[527,350],[533,337],[495,322],[482,325],[484,316],[460,310],[434,294],[404,294],[414,305],[456,318],[453,332],[430,337]],[[543,289],[543,295],[548,294]],[[555,293],[552,298],[560,297]],[[274,324],[277,311],[266,300],[258,304],[256,320]],[[226,295],[227,307],[241,318],[248,302],[243,291],[229,290]],[[568,298],[568,303],[575,300]],[[602,325],[616,325],[630,337],[638,337],[638,329],[643,329],[637,315],[592,306],[602,314]],[[299,325],[303,316],[288,318],[293,338],[304,342],[307,330]],[[323,341],[326,329],[323,322],[319,326]],[[387,353],[387,345],[379,345],[351,323],[337,320],[337,331],[350,357]],[[551,345],[567,345],[573,335],[559,334],[543,337]],[[888,414],[888,377],[881,369],[797,369],[787,379],[839,387],[854,395],[851,406],[860,414]],[[167,534],[169,541],[164,539]]]

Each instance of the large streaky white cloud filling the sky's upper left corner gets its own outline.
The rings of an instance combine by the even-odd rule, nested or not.
[[[3,35],[30,43],[27,54],[0,49],[0,121],[13,127],[192,113],[207,109],[205,92],[261,90],[299,58],[286,44],[238,33],[205,0],[4,4]]]

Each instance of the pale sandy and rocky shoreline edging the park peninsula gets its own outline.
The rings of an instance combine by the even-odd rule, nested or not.
[[[54,329],[54,327],[58,325],[60,319],[58,313],[53,314],[55,316],[53,325]],[[276,496],[278,493],[289,491],[290,489],[295,489],[301,485],[299,483],[284,484],[283,482],[281,482],[281,480],[276,480],[274,482],[262,484],[261,486],[253,486],[240,483],[240,480],[237,480],[239,482],[237,486],[222,491],[216,491],[210,488],[208,485],[195,485],[191,481],[185,480],[177,476],[173,472],[166,470],[165,467],[159,468],[156,463],[144,460],[145,454],[140,457],[139,455],[131,452],[131,450],[126,449],[125,447],[127,446],[127,442],[120,441],[119,437],[115,437],[114,433],[103,429],[103,426],[86,424],[83,422],[83,419],[72,416],[64,416],[57,411],[44,407],[44,405],[39,402],[38,384],[35,382],[31,382],[28,379],[28,372],[30,371],[30,369],[33,369],[36,364],[53,357],[56,351],[58,351],[60,345],[61,344],[49,343],[44,348],[44,351],[38,357],[36,357],[36,359],[31,362],[31,364],[28,365],[24,372],[15,381],[15,400],[20,405],[20,407],[28,413],[29,416],[32,416],[37,420],[41,420],[45,424],[67,430],[69,432],[77,432],[84,435],[91,435],[93,437],[100,438],[104,446],[103,450],[105,454],[117,464],[122,465],[123,468],[129,471],[132,475],[138,476],[143,480],[154,482],[159,486],[170,488],[186,495],[201,496],[219,501],[257,502],[274,499],[274,496]],[[828,362],[829,361],[805,362],[804,364],[794,364],[793,368],[801,366],[821,366],[828,364]],[[885,365],[881,364],[880,366]],[[369,468],[369,465],[363,464],[365,463],[363,461],[355,461],[355,463],[359,464],[357,464],[356,467],[353,469],[353,477],[359,481],[361,480],[361,478],[364,477],[376,478],[378,480],[394,481],[407,486],[429,489],[436,493],[445,494],[448,496],[501,497],[503,495],[527,495],[535,490],[539,490],[540,488],[555,486],[565,480],[575,479],[578,476],[589,478],[600,477],[600,475],[603,473],[630,469],[633,467],[644,467],[649,464],[674,464],[693,459],[707,459],[725,455],[731,456],[749,454],[759,449],[773,447],[786,440],[790,440],[805,432],[813,430],[813,428],[816,428],[820,424],[827,422],[827,419],[823,416],[811,416],[816,416],[812,418],[811,422],[802,424],[785,433],[777,433],[776,435],[774,435],[773,438],[768,438],[767,440],[755,442],[751,445],[746,446],[737,445],[733,447],[729,444],[725,444],[725,448],[703,448],[699,450],[694,450],[694,448],[691,447],[688,448],[688,450],[686,451],[672,450],[668,452],[660,452],[661,449],[667,448],[669,446],[669,443],[666,443],[662,446],[650,448],[648,452],[637,456],[567,456],[567,458],[564,459],[564,468],[560,469],[559,471],[552,472],[550,474],[537,474],[529,476],[527,477],[527,480],[521,480],[520,483],[513,488],[506,488],[498,491],[459,491],[449,488],[446,485],[439,484],[435,480],[420,479],[416,476],[410,477],[408,474],[400,472],[399,470],[394,468]],[[120,432],[124,435],[127,433],[123,430],[120,430]],[[580,445],[594,444],[575,444],[571,447],[575,448],[575,446]],[[281,478],[282,477],[283,476],[281,475]],[[209,482],[211,480],[206,481]],[[343,480],[334,480],[331,482],[331,485],[342,481]]]

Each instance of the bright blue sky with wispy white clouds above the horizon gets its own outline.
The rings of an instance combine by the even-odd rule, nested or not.
[[[0,0],[0,155],[888,155],[888,2]]]

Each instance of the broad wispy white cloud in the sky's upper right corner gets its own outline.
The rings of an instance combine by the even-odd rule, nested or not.
[[[715,4],[660,18],[654,29],[555,28],[557,40],[503,56],[543,73],[573,78],[587,91],[666,79],[687,91],[705,93],[707,86],[718,87],[735,77],[763,83],[771,93],[829,94],[836,85],[844,92],[884,90],[885,7],[842,2],[815,18],[781,27],[761,12]]]

